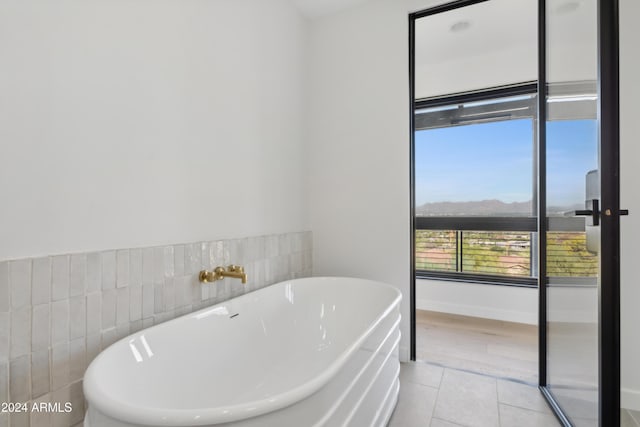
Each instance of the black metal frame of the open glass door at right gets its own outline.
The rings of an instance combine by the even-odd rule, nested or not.
[[[618,0],[598,0],[598,119],[600,141],[601,264],[598,286],[598,418],[601,426],[620,425],[620,107]],[[546,149],[546,0],[538,1],[538,135],[541,153]],[[546,174],[540,156],[540,174]],[[542,180],[541,180],[542,181]],[[540,185],[545,186],[544,182]],[[541,193],[546,192],[546,186]],[[539,200],[540,211],[546,201]],[[543,210],[544,209],[544,210]],[[539,257],[546,259],[547,224],[539,219]],[[540,264],[539,324],[547,324],[547,274]],[[547,384],[547,330],[539,327],[539,384],[562,424],[571,422],[562,412]]]

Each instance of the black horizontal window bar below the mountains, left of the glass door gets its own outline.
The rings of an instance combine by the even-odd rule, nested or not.
[[[537,231],[535,217],[431,217],[417,216],[416,230]]]

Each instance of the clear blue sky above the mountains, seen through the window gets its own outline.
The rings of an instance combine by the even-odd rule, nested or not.
[[[416,132],[416,204],[531,200],[532,120]],[[594,120],[556,121],[547,133],[547,204],[584,200],[584,176],[597,167]]]

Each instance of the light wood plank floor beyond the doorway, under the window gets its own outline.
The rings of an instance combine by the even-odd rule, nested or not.
[[[416,359],[536,384],[538,329],[535,325],[416,310]]]

